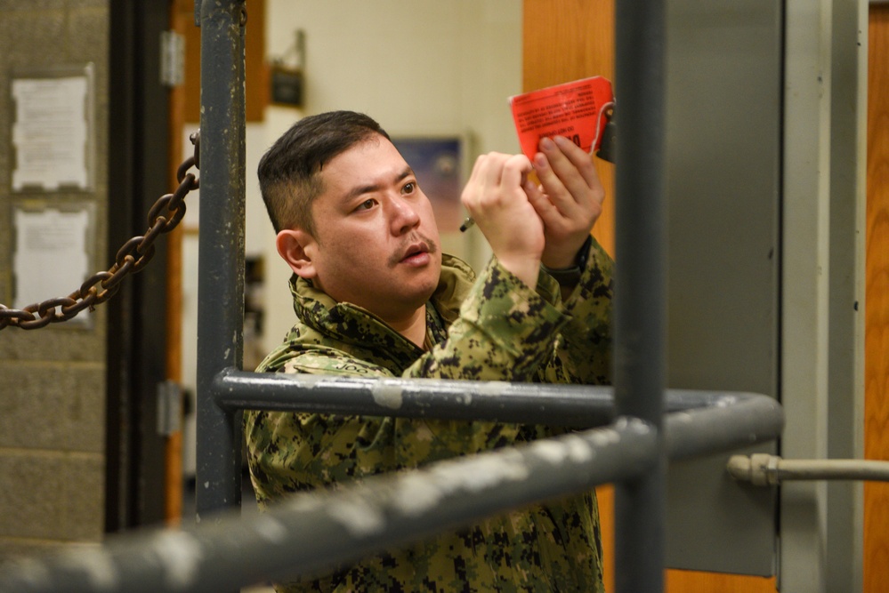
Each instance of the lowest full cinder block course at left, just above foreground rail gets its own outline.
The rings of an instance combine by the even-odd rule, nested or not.
[[[104,456],[0,449],[0,538],[101,541]]]

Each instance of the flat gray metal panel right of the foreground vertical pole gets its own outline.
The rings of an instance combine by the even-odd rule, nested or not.
[[[782,3],[674,0],[667,23],[667,384],[779,397]],[[670,467],[667,565],[772,574],[776,492],[727,458]]]

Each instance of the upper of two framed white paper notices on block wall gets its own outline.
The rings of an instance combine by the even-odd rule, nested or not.
[[[12,191],[90,188],[89,97],[88,74],[12,79]]]

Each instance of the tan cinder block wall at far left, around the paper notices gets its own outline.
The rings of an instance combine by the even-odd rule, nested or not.
[[[109,0],[0,0],[0,303],[8,307],[13,204],[92,204],[90,271],[107,269],[108,44]],[[91,62],[93,190],[13,194],[11,76]],[[102,308],[80,315],[91,316],[92,326],[0,332],[0,564],[18,554],[102,537],[106,323]]]

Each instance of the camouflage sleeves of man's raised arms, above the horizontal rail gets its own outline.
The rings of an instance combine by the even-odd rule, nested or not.
[[[405,377],[601,385],[611,378],[613,262],[593,241],[577,288],[562,302],[541,271],[532,291],[492,259],[449,337]]]

